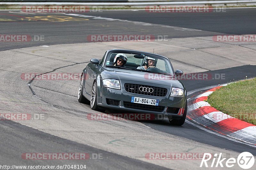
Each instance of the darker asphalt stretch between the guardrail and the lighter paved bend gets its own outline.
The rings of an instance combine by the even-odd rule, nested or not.
[[[29,35],[44,35],[47,44],[80,43],[87,42],[86,37],[94,34],[153,34],[167,35],[168,38],[213,36],[221,34],[253,34],[255,33],[256,14],[255,9],[226,9],[226,12],[210,13],[148,13],[145,11],[99,11],[77,13],[95,17],[117,18],[137,22],[151,23],[151,25],[131,25],[127,22],[108,22],[105,19],[92,19],[79,22],[44,22],[33,21],[35,14],[21,13],[19,11],[1,11],[1,18],[11,19],[1,24],[2,34],[25,33]],[[55,13],[47,13],[37,16],[56,16]],[[58,16],[63,16],[58,14]],[[139,17],[138,17],[139,16]],[[29,20],[30,19],[30,20]],[[81,18],[82,19],[82,18]],[[2,22],[3,23],[3,22]],[[173,26],[156,29],[153,24]],[[180,29],[179,29],[180,28]],[[186,31],[186,29],[190,29]],[[194,30],[193,30],[194,29]],[[201,30],[201,31],[198,31]],[[161,33],[161,34],[160,34]],[[45,42],[7,43],[0,42],[0,50],[44,45]],[[17,47],[17,45],[19,47]]]

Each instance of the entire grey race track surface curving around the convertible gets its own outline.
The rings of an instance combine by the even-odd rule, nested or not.
[[[92,121],[88,115],[99,112],[77,101],[79,80],[21,78],[24,73],[80,73],[91,58],[101,58],[111,48],[150,52],[154,49],[169,57],[174,69],[225,75],[222,79],[184,80],[190,98],[215,85],[256,77],[255,41],[212,41],[215,35],[256,34],[255,21],[255,8],[154,14],[145,11],[75,14],[0,11],[0,35],[31,37],[26,42],[0,41],[0,113],[45,115],[45,120],[39,121],[0,121],[1,165],[86,164],[88,169],[195,169],[200,160],[150,160],[145,154],[222,152],[236,158],[241,152],[251,152],[256,156],[255,146],[209,133],[188,120],[183,126],[172,126],[166,119]],[[103,34],[167,36],[168,41],[88,40],[91,35]],[[39,40],[40,36],[43,38]],[[90,158],[101,154],[102,159],[26,160],[21,157],[24,153],[90,153]]]

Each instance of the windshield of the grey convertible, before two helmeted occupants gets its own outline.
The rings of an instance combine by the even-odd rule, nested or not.
[[[120,51],[119,51],[120,52]],[[114,58],[119,53],[118,51],[110,51],[107,55],[105,67],[113,66]],[[161,73],[161,74],[173,74],[171,63],[168,59],[158,56],[158,55],[149,55],[149,54],[135,54],[135,53],[123,53],[127,56],[127,62],[124,64],[124,68],[137,70],[137,71],[146,71],[146,72],[155,72],[155,73]],[[144,58],[147,57],[148,59],[155,59],[154,69],[146,69],[144,70]],[[140,68],[139,68],[140,67]],[[147,67],[146,67],[147,68]]]

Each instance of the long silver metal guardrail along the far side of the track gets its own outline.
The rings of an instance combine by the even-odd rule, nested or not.
[[[256,5],[256,0],[0,0],[0,5],[100,5],[145,7],[148,5]]]

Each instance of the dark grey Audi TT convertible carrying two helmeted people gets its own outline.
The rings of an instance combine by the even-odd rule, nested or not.
[[[122,110],[165,115],[182,125],[187,115],[187,91],[170,60],[144,51],[112,49],[84,68],[78,101],[93,110]]]

